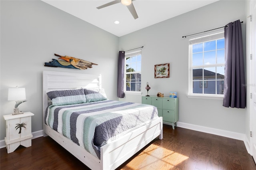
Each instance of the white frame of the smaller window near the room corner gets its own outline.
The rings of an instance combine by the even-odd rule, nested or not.
[[[133,49],[133,50],[129,50],[129,51],[125,51],[125,54],[124,54],[124,93],[128,93],[128,94],[134,94],[134,95],[141,95],[142,92],[141,91],[126,91],[126,58],[127,57],[134,57],[134,56],[137,56],[137,55],[141,55],[141,48],[138,48],[138,49]],[[140,67],[141,67],[141,60],[140,60]],[[140,73],[141,75],[141,69],[140,71],[134,71],[134,72],[129,72],[128,74],[135,74],[135,73]],[[142,88],[142,87],[141,87]]]

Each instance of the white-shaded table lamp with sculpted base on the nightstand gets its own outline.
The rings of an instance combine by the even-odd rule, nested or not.
[[[25,102],[26,100],[26,92],[25,88],[9,88],[8,89],[8,101],[16,101],[15,107],[13,109],[14,113],[12,115],[16,114],[22,114],[23,112],[19,110],[18,105]]]

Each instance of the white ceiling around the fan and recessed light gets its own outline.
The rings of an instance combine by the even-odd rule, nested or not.
[[[218,0],[134,0],[139,17],[136,20],[121,3],[99,10],[96,8],[112,0],[42,1],[120,37]],[[114,24],[115,20],[120,24]]]

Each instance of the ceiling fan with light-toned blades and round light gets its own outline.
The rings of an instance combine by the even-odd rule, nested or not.
[[[134,0],[114,0],[112,2],[108,2],[108,3],[104,4],[102,6],[98,6],[97,9],[105,8],[107,6],[114,5],[114,4],[121,2],[123,5],[127,6],[128,10],[132,14],[133,18],[137,19],[138,15],[137,15],[137,12],[132,4],[132,1],[134,1]]]

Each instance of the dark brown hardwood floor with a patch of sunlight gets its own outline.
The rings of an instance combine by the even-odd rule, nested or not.
[[[32,140],[7,154],[0,149],[1,170],[86,170],[82,162],[50,137]],[[244,142],[213,134],[164,125],[156,138],[118,170],[256,170]]]

